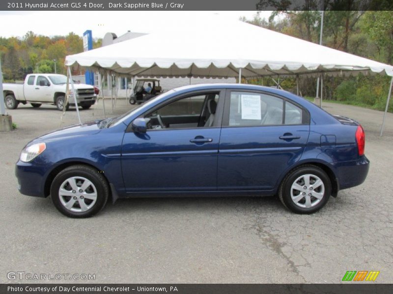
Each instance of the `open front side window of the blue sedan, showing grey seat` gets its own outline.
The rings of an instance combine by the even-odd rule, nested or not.
[[[145,115],[151,129],[210,127],[215,122],[219,93],[177,99]]]

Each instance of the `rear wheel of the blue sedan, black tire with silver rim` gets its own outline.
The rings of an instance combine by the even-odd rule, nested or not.
[[[311,214],[320,210],[331,194],[332,183],[329,176],[313,165],[300,166],[289,172],[279,188],[282,204],[299,214]]]

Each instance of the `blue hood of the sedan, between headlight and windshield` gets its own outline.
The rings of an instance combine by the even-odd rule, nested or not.
[[[72,138],[72,137],[97,134],[101,131],[101,129],[98,126],[98,123],[100,121],[101,120],[83,123],[82,125],[81,124],[74,124],[74,125],[66,126],[64,128],[57,129],[57,130],[49,132],[43,136],[40,136],[40,137],[34,139],[31,143],[33,143],[33,142],[34,143],[49,142],[49,141],[57,140],[57,139],[64,139],[64,138]]]

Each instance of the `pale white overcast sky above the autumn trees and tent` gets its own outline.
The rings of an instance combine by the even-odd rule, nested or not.
[[[227,20],[245,16],[252,19],[256,11],[1,11],[0,37],[23,37],[28,31],[54,36],[74,32],[82,36],[87,29],[93,38],[103,38],[112,32],[121,36],[128,30],[151,33],[165,31],[219,15]],[[262,11],[261,17],[269,17]]]

